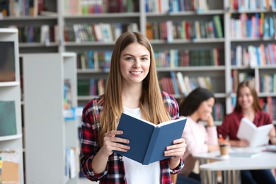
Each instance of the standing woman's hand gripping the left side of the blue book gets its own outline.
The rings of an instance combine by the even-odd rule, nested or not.
[[[115,137],[115,135],[117,134],[123,134],[123,132],[121,130],[112,130],[110,132],[105,133],[105,137],[103,137],[103,147],[100,150],[102,154],[110,156],[111,154],[113,154],[113,151],[115,150],[127,152],[127,150],[130,149],[130,146],[125,145],[130,143],[130,141],[128,139]]]

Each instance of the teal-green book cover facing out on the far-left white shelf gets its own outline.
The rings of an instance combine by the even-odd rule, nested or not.
[[[0,136],[16,134],[15,101],[0,101]]]

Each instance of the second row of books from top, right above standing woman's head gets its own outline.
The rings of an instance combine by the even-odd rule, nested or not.
[[[223,25],[220,16],[209,21],[162,21],[146,23],[146,36],[149,40],[223,38]]]

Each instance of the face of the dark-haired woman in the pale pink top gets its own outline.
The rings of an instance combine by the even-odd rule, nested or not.
[[[207,120],[209,116],[212,115],[213,107],[214,98],[209,98],[208,100],[203,101],[197,109],[200,120]]]

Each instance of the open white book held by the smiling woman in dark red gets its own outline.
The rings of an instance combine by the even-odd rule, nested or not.
[[[246,139],[250,146],[263,146],[268,144],[269,141],[269,132],[272,129],[273,125],[263,125],[256,127],[256,125],[248,120],[248,118],[243,117],[241,119],[241,124],[238,127],[237,137],[239,139]]]

